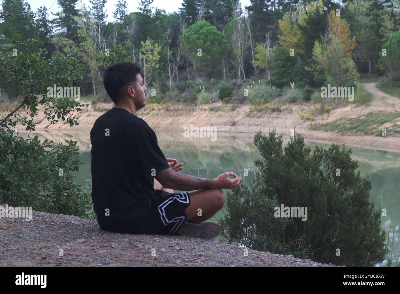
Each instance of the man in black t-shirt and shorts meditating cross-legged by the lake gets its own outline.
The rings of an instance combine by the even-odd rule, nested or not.
[[[216,238],[221,226],[203,221],[224,206],[221,189],[238,186],[240,177],[225,172],[196,178],[180,172],[182,163],[165,158],[154,131],[136,116],[146,105],[147,91],[139,66],[114,64],[104,71],[103,83],[115,106],[90,131],[93,210],[100,228]]]

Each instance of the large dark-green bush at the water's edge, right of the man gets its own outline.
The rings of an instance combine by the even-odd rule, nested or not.
[[[352,150],[337,144],[312,150],[297,132],[282,150],[282,137],[276,130],[254,136],[262,155],[254,162],[260,172],[250,188],[241,183],[228,192],[222,237],[250,249],[323,263],[382,262],[387,248],[380,212],[370,200],[371,182],[356,172]],[[277,214],[282,204],[307,208],[307,213],[282,218]]]

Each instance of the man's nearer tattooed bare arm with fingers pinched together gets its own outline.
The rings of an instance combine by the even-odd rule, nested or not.
[[[230,179],[229,176],[233,176],[234,178]],[[170,168],[156,172],[155,178],[164,188],[180,191],[214,188],[233,189],[240,183],[240,177],[233,172],[225,172],[215,179],[205,179],[173,172]]]

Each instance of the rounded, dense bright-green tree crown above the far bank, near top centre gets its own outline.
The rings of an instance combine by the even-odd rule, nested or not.
[[[229,45],[222,32],[209,22],[196,22],[180,36],[183,53],[204,74],[210,83],[212,74],[220,70],[223,56],[228,52]]]

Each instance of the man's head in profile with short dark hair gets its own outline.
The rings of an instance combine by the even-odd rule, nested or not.
[[[140,67],[133,62],[114,64],[104,70],[104,88],[114,104],[132,100],[136,110],[146,105],[146,86]]]

